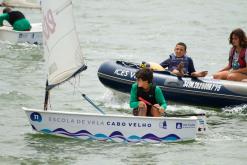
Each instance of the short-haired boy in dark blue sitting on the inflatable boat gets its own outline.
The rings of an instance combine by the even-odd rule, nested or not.
[[[168,70],[177,76],[184,76],[186,74],[192,77],[205,77],[208,72],[197,72],[195,70],[192,58],[186,55],[186,49],[185,43],[177,43],[174,53],[167,60],[160,63],[160,65],[163,68],[168,67]]]

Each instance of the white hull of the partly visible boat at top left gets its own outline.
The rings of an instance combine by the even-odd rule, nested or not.
[[[11,43],[42,44],[42,24],[33,23],[30,31],[15,31],[11,26],[0,27],[0,40]]]

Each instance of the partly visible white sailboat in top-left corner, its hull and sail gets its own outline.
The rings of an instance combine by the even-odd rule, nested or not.
[[[8,7],[40,9],[40,4],[26,0],[4,0],[3,3]],[[0,27],[0,40],[11,43],[42,44],[42,24],[31,23],[30,31],[16,31],[12,26],[4,25]]]

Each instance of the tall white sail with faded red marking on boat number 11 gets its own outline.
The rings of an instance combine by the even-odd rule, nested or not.
[[[50,88],[86,69],[71,0],[42,0],[43,43]],[[48,87],[48,88],[49,88]]]

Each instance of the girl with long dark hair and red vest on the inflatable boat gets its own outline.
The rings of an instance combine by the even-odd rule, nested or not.
[[[247,37],[242,29],[231,32],[229,43],[232,48],[229,52],[228,64],[214,74],[215,79],[247,81]]]

